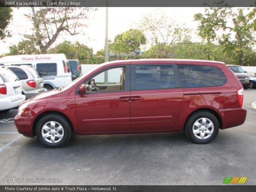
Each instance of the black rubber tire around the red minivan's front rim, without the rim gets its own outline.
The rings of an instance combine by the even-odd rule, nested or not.
[[[50,121],[57,122],[58,124],[60,124],[63,127],[63,130],[64,130],[62,139],[56,143],[47,142],[42,136],[42,128],[43,128],[44,124],[46,124],[47,122],[50,122]],[[50,129],[50,127],[49,127],[49,129]],[[65,117],[58,115],[58,114],[49,114],[49,115],[43,116],[36,124],[36,137],[40,141],[40,143],[43,144],[47,148],[63,147],[64,145],[66,145],[68,143],[68,141],[71,138],[71,135],[72,135],[72,128],[71,128],[70,123],[68,122],[68,120]],[[54,136],[54,138],[55,138],[55,136]]]

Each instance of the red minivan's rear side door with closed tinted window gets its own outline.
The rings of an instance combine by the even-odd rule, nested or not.
[[[131,65],[131,131],[171,130],[183,99],[176,65]]]

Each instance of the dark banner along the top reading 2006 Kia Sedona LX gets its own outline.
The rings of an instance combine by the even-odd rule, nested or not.
[[[0,0],[16,7],[251,7],[255,0]],[[185,13],[184,13],[185,14]]]

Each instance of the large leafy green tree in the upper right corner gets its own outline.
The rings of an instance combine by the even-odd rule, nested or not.
[[[204,14],[197,13],[194,19],[199,21],[199,36],[207,42],[218,40],[223,52],[235,52],[241,66],[244,65],[244,50],[255,44],[250,18],[243,9],[231,7],[205,8]],[[217,35],[221,34],[221,35]]]

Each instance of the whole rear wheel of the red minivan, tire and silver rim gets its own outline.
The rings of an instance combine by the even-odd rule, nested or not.
[[[219,132],[219,122],[210,112],[200,111],[189,117],[185,125],[186,136],[197,144],[210,143]]]

